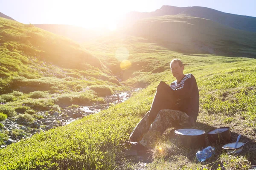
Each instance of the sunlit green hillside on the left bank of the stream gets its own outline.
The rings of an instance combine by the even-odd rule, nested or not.
[[[102,103],[102,96],[124,88],[76,42],[2,17],[0,56],[0,121],[7,115],[33,122],[42,119],[38,111]]]

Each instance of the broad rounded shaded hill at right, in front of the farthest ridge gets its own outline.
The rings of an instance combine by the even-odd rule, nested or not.
[[[130,35],[144,37],[173,51],[255,57],[256,34],[211,20],[185,15],[150,17],[137,21]]]

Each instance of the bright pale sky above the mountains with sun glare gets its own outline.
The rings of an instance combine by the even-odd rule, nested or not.
[[[130,11],[151,12],[163,5],[204,6],[256,17],[256,0],[0,0],[0,12],[25,24],[112,29]]]

